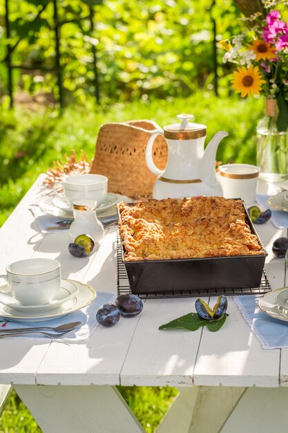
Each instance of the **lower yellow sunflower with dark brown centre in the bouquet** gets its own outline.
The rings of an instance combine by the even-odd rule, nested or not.
[[[263,83],[265,80],[262,80],[258,66],[251,65],[248,69],[242,66],[233,72],[232,87],[237,93],[241,92],[242,98],[246,95],[259,95]]]

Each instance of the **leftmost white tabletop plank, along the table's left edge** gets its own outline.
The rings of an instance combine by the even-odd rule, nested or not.
[[[35,201],[41,179],[32,185],[17,208],[0,229],[0,274],[6,274],[6,266],[18,259],[27,259],[35,254],[43,237],[37,231],[29,205]],[[0,285],[6,281],[0,276]],[[0,339],[0,383],[35,384],[35,371],[40,365],[49,340]]]

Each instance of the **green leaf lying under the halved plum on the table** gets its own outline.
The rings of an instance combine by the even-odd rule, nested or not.
[[[226,319],[226,314],[218,320],[204,320],[199,317],[198,313],[189,313],[159,326],[159,329],[187,329],[188,331],[197,331],[200,326],[207,326],[209,331],[215,332],[223,326]]]

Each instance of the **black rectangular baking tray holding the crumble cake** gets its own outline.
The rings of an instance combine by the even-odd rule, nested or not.
[[[267,251],[245,206],[244,210],[247,223],[251,232],[258,237],[265,251],[264,255],[124,261],[124,246],[122,246],[122,262],[126,268],[131,293],[135,295],[175,291],[198,293],[201,290],[225,291],[259,287]],[[118,217],[120,219],[119,211]]]

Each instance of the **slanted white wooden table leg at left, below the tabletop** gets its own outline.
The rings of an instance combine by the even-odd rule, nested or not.
[[[143,433],[116,387],[15,385],[44,433]]]

